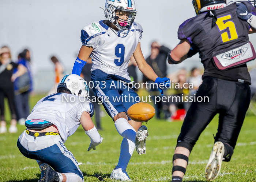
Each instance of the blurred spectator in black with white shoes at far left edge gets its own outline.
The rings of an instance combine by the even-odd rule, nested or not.
[[[10,133],[17,132],[16,127],[16,114],[14,104],[14,84],[11,82],[11,76],[14,68],[18,67],[18,64],[11,61],[11,50],[7,46],[3,46],[0,49],[0,119],[1,127],[0,133],[7,132],[6,122],[4,117],[4,98],[7,97],[10,111],[11,111],[11,126],[9,128]]]

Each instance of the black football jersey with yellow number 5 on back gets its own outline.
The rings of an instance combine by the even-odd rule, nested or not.
[[[242,3],[246,5],[249,12],[256,13],[256,9],[251,3]],[[241,48],[244,44],[249,43],[249,24],[237,17],[236,9],[236,3],[233,3],[225,8],[200,13],[200,15],[186,20],[179,27],[178,39],[187,39],[191,46],[195,46],[199,52],[205,70],[203,78],[212,76],[251,84],[246,64],[227,70],[218,70],[212,59],[214,56]],[[236,53],[238,51],[233,51],[231,58],[226,59],[233,61],[233,59],[243,56],[243,54]]]

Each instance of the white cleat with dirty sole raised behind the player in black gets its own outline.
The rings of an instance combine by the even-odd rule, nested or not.
[[[212,181],[219,175],[221,171],[221,163],[224,155],[224,144],[215,142],[212,147],[210,159],[205,168],[205,177],[208,181]]]

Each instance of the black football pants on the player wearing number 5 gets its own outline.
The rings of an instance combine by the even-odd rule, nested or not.
[[[219,113],[215,142],[228,143],[234,148],[250,104],[249,85],[206,76],[196,93],[196,97],[199,96],[208,96],[209,102],[206,99],[206,102],[191,104],[177,141],[194,146],[212,118]]]

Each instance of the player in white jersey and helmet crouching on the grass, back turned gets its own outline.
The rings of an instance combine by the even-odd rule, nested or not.
[[[84,79],[66,75],[57,93],[39,100],[27,117],[27,129],[20,135],[17,146],[25,157],[37,160],[41,169],[39,182],[84,181],[78,161],[64,142],[80,124],[91,139],[88,151],[96,150],[102,142],[91,120],[93,104],[87,96],[89,88]]]

